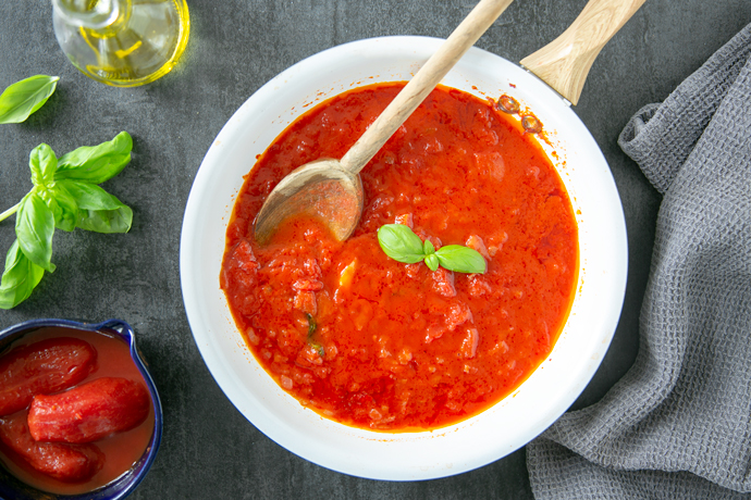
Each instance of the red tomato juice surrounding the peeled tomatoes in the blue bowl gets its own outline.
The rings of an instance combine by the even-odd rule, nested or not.
[[[123,340],[103,333],[45,327],[25,334],[21,339],[13,342],[10,349],[59,337],[77,338],[96,349],[96,366],[78,385],[103,377],[121,377],[145,384],[144,377],[131,358],[128,346]],[[19,413],[22,413],[25,420],[28,410],[24,409]],[[20,415],[10,415],[10,418],[14,417],[20,417]],[[90,479],[83,483],[65,483],[35,471],[2,442],[0,442],[0,462],[14,476],[35,488],[59,495],[79,495],[112,483],[126,473],[144,454],[151,439],[153,425],[153,409],[150,408],[146,420],[136,427],[94,441],[94,445],[104,455],[103,463]]]

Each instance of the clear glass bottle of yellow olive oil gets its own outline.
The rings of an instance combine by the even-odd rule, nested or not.
[[[115,87],[169,73],[185,50],[185,0],[52,0],[58,42],[86,76]]]

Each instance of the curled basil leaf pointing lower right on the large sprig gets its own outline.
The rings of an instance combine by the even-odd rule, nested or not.
[[[96,233],[127,233],[133,211],[119,199],[94,184],[59,180],[78,205],[76,227]]]

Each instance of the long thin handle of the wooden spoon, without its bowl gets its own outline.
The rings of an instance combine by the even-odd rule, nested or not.
[[[359,173],[513,0],[481,0],[342,158]]]

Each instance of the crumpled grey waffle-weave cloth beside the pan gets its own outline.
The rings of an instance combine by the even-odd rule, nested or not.
[[[633,366],[527,447],[537,499],[751,499],[751,24],[618,143],[663,193]]]

